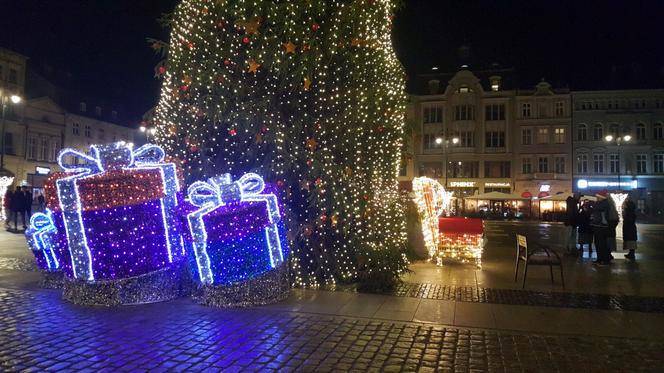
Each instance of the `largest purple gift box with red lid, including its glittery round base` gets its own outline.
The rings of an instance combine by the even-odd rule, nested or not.
[[[76,303],[144,303],[174,298],[184,246],[175,220],[181,173],[155,145],[93,145],[60,152],[64,173],[45,184],[66,233],[64,296]],[[73,164],[65,161],[75,160]],[[158,286],[157,286],[158,285]],[[106,295],[104,295],[106,293]]]

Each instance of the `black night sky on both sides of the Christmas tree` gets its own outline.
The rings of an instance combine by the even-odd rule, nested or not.
[[[177,0],[0,0],[0,46],[72,74],[68,89],[138,118],[157,100],[166,39],[157,18]],[[394,27],[409,75],[470,65],[514,67],[521,88],[546,78],[573,89],[664,88],[664,1],[406,0]],[[129,124],[129,123],[128,123]]]

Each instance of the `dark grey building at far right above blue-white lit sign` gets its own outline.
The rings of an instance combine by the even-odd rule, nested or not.
[[[580,91],[572,102],[574,190],[627,191],[639,212],[661,215],[664,89]]]

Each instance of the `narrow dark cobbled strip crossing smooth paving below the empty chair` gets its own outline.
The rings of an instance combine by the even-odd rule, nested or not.
[[[391,295],[459,302],[664,313],[664,298],[401,283]]]

